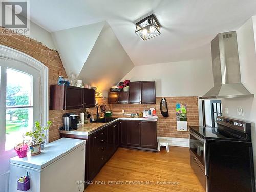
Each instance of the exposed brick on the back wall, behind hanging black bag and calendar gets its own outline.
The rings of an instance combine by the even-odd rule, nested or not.
[[[169,117],[164,118],[160,112],[160,101],[162,97],[156,98],[156,104],[111,104],[111,110],[114,114],[122,113],[137,113],[150,107],[156,108],[157,116],[157,136],[161,137],[176,137],[188,138],[188,132],[177,131],[176,125],[176,103],[187,104],[187,123],[188,126],[198,126],[198,102],[197,97],[165,97],[167,101]]]

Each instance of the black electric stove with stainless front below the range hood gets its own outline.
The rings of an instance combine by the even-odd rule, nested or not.
[[[206,192],[255,191],[250,123],[217,117],[189,127],[190,164]]]

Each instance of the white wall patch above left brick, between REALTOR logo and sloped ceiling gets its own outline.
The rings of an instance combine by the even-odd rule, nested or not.
[[[30,34],[28,35],[28,37],[41,42],[50,49],[56,49],[53,44],[51,33],[33,22],[30,22]]]

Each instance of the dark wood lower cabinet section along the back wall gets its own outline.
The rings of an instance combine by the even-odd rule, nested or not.
[[[156,121],[123,120],[120,127],[120,147],[157,151]]]

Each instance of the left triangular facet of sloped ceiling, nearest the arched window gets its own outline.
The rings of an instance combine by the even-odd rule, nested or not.
[[[51,33],[68,76],[79,74],[105,22]]]

